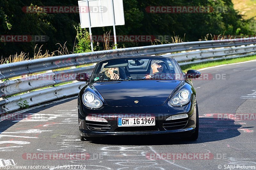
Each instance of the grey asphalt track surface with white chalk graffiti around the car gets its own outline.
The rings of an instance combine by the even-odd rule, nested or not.
[[[193,81],[197,141],[172,135],[80,141],[73,97],[1,117],[0,169],[256,169],[248,168],[256,166],[256,61],[201,73],[211,80]]]

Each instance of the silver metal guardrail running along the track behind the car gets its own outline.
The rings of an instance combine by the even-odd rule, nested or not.
[[[63,71],[54,71],[31,75],[60,68],[70,68],[85,64],[96,63],[100,60],[121,56],[143,56],[161,55],[175,58],[180,65],[198,63],[209,60],[209,58],[225,56],[236,57],[252,55],[256,52],[256,38],[226,39],[212,41],[184,42],[177,44],[164,44],[154,46],[132,47],[124,49],[97,51],[90,53],[68,54],[62,56],[48,57],[36,60],[26,60],[0,65],[0,80],[24,76],[16,80],[0,82],[0,115],[8,111],[20,109],[20,98],[27,100],[29,106],[48,102],[64,96],[78,94],[85,85],[84,82],[73,82],[65,85],[55,86],[60,83],[74,81],[79,73],[91,73],[94,66],[79,67]],[[180,53],[175,53],[180,52]],[[168,54],[171,53],[171,54]],[[239,55],[243,54],[243,55]],[[35,89],[50,87],[46,89],[31,91]],[[29,92],[30,91],[30,92]],[[20,94],[24,93],[25,94]],[[17,96],[12,96],[20,94]],[[45,97],[47,96],[47,97]],[[8,97],[8,98],[6,98]]]

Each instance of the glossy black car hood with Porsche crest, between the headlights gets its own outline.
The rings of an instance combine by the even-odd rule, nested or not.
[[[109,106],[157,106],[162,105],[181,81],[139,80],[95,82]],[[135,103],[138,101],[138,103]]]

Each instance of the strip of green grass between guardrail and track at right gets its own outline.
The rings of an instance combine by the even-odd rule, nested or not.
[[[224,60],[218,60],[218,61],[209,61],[205,63],[188,64],[185,66],[180,66],[180,68],[182,69],[183,72],[186,73],[188,70],[191,70],[191,69],[198,70],[206,67],[214,67],[222,64],[232,64],[232,63],[238,63],[238,62],[249,61],[249,60],[256,60],[256,55],[250,56],[250,57],[236,58],[236,59],[224,59]]]

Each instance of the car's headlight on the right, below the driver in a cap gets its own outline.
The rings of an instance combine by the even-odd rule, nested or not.
[[[191,93],[187,89],[181,89],[170,100],[173,106],[185,105],[190,101]]]

